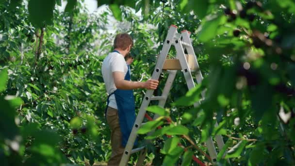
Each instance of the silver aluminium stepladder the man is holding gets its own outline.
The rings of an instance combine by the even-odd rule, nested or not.
[[[171,25],[169,27],[167,37],[164,41],[162,51],[158,57],[158,61],[156,63],[156,66],[153,71],[151,79],[154,79],[154,80],[159,79],[160,74],[162,73],[162,69],[163,69],[167,54],[171,48],[171,45],[174,45],[176,52],[177,52],[176,58],[179,59],[181,70],[183,72],[188,89],[190,90],[190,89],[194,88],[195,82],[192,77],[191,69],[190,69],[188,62],[186,60],[184,50],[186,50],[188,54],[193,55],[193,57],[194,57],[193,61],[194,61],[195,66],[197,67],[196,80],[197,80],[197,83],[202,82],[203,77],[202,77],[200,70],[198,69],[199,67],[198,67],[198,63],[197,63],[197,57],[195,55],[195,51],[192,46],[190,35],[191,35],[191,33],[186,30],[182,31],[181,33],[178,33],[177,26],[175,26],[175,25]],[[129,136],[129,139],[128,139],[127,145],[125,147],[125,150],[124,150],[124,153],[121,158],[119,166],[126,166],[129,161],[130,155],[132,153],[135,153],[138,151],[140,152],[140,154],[139,154],[139,158],[137,160],[136,166],[143,165],[144,159],[146,157],[147,149],[145,148],[145,146],[140,147],[140,148],[136,148],[136,149],[132,149],[133,144],[134,144],[135,139],[137,137],[137,131],[140,128],[140,126],[142,125],[142,121],[143,121],[145,114],[146,114],[146,108],[148,107],[150,101],[151,100],[159,100],[158,105],[160,107],[164,108],[169,91],[170,91],[173,81],[175,79],[177,70],[170,70],[168,72],[169,72],[169,75],[168,75],[167,81],[165,83],[165,86],[164,86],[164,89],[162,92],[162,96],[153,97],[152,95],[153,95],[154,90],[147,90],[145,97],[142,101],[142,104],[140,106],[139,112],[137,114],[136,120],[134,122],[131,134]],[[202,93],[202,98],[205,98],[204,93]],[[195,104],[195,106],[197,106],[197,103]],[[157,117],[158,117],[158,115],[154,115],[153,119],[156,119]],[[215,126],[218,126],[217,122],[215,123]],[[224,146],[222,136],[216,135],[215,139],[217,142],[218,149],[221,150]],[[215,146],[214,146],[212,137],[209,137],[209,139],[206,141],[206,146],[208,148],[209,155],[212,159],[212,162],[215,163],[217,160],[217,152],[215,150]]]

